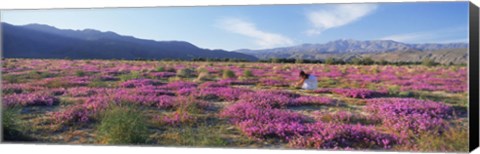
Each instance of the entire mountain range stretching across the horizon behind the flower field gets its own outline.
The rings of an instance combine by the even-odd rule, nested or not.
[[[391,62],[418,62],[425,58],[439,63],[462,64],[468,61],[468,43],[408,44],[392,40],[341,39],[324,44],[226,51],[199,48],[185,41],[155,41],[94,29],[68,30],[49,25],[23,26],[2,23],[4,58],[71,59],[243,59],[270,58],[324,60],[370,57]]]

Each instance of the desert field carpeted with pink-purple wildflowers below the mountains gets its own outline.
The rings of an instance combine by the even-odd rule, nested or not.
[[[292,86],[300,70],[317,76],[319,89]],[[15,133],[4,136],[118,144],[99,132],[111,122],[102,115],[123,106],[146,122],[142,142],[120,144],[466,151],[467,73],[465,66],[5,59],[2,111],[14,122],[3,127]]]

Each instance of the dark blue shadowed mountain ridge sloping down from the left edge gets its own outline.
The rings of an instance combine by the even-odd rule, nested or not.
[[[202,49],[184,41],[154,41],[93,29],[62,30],[48,25],[2,23],[3,57],[71,59],[182,59],[256,57]]]

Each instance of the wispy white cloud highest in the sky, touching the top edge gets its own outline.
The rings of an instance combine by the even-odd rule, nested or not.
[[[374,12],[374,4],[338,4],[334,7],[307,13],[307,18],[313,27],[306,31],[308,35],[318,35],[323,31],[347,25]]]

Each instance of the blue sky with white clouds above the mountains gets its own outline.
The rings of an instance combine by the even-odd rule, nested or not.
[[[7,10],[0,19],[226,50],[337,39],[468,42],[468,2]]]

